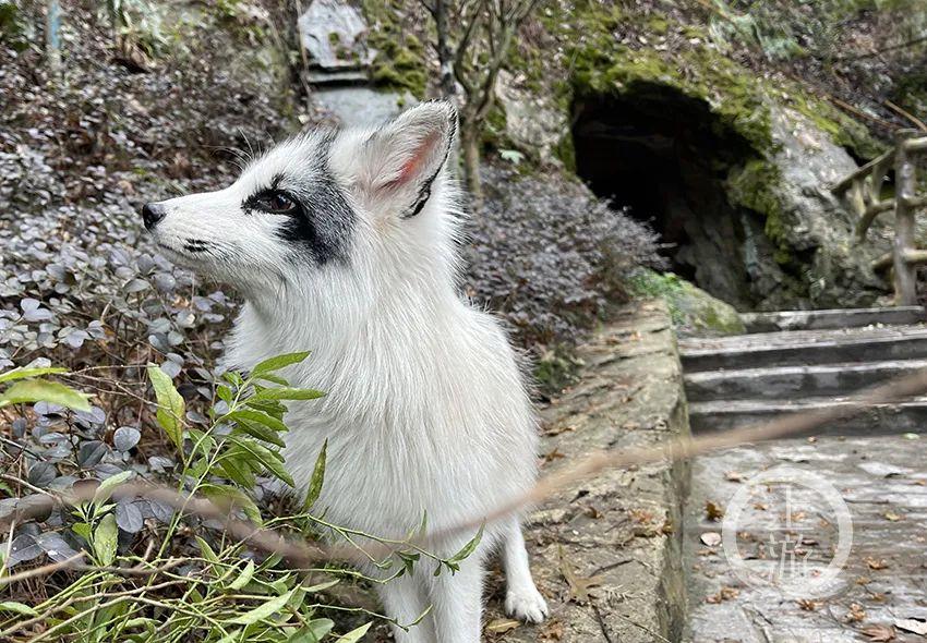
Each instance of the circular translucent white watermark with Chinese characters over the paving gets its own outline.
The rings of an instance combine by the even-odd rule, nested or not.
[[[749,535],[754,518],[768,541],[745,555],[738,535]],[[770,518],[772,517],[772,518]],[[770,522],[771,520],[771,522]],[[853,546],[853,520],[840,492],[808,471],[776,466],[749,478],[727,504],[722,546],[734,574],[754,587],[771,587],[787,598],[818,598],[836,593]],[[822,543],[829,544],[824,548]],[[814,555],[812,555],[814,554]]]

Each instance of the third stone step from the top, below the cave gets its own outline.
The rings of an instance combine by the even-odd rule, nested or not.
[[[927,368],[927,360],[702,371],[685,376],[686,397],[706,402],[845,396],[920,368]]]

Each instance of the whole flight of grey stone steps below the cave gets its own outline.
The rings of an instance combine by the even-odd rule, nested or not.
[[[920,306],[744,315],[748,333],[679,340],[694,432],[846,403],[854,391],[927,367]],[[927,433],[927,398],[874,407],[818,434]]]

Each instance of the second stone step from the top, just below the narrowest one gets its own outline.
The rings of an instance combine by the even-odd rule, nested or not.
[[[788,330],[679,340],[686,373],[927,359],[927,328]]]

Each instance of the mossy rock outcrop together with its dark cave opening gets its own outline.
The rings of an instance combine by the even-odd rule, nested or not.
[[[869,268],[884,235],[854,246],[828,191],[854,158],[879,150],[863,124],[794,80],[746,66],[679,11],[545,7],[544,50],[522,47],[497,90],[509,143],[578,170],[616,205],[634,208],[647,184],[662,201],[636,209],[675,244],[674,269],[739,310],[858,306],[889,291]],[[590,134],[597,126],[611,131]],[[592,146],[590,170],[597,136],[609,144]],[[646,175],[647,163],[663,175]]]

